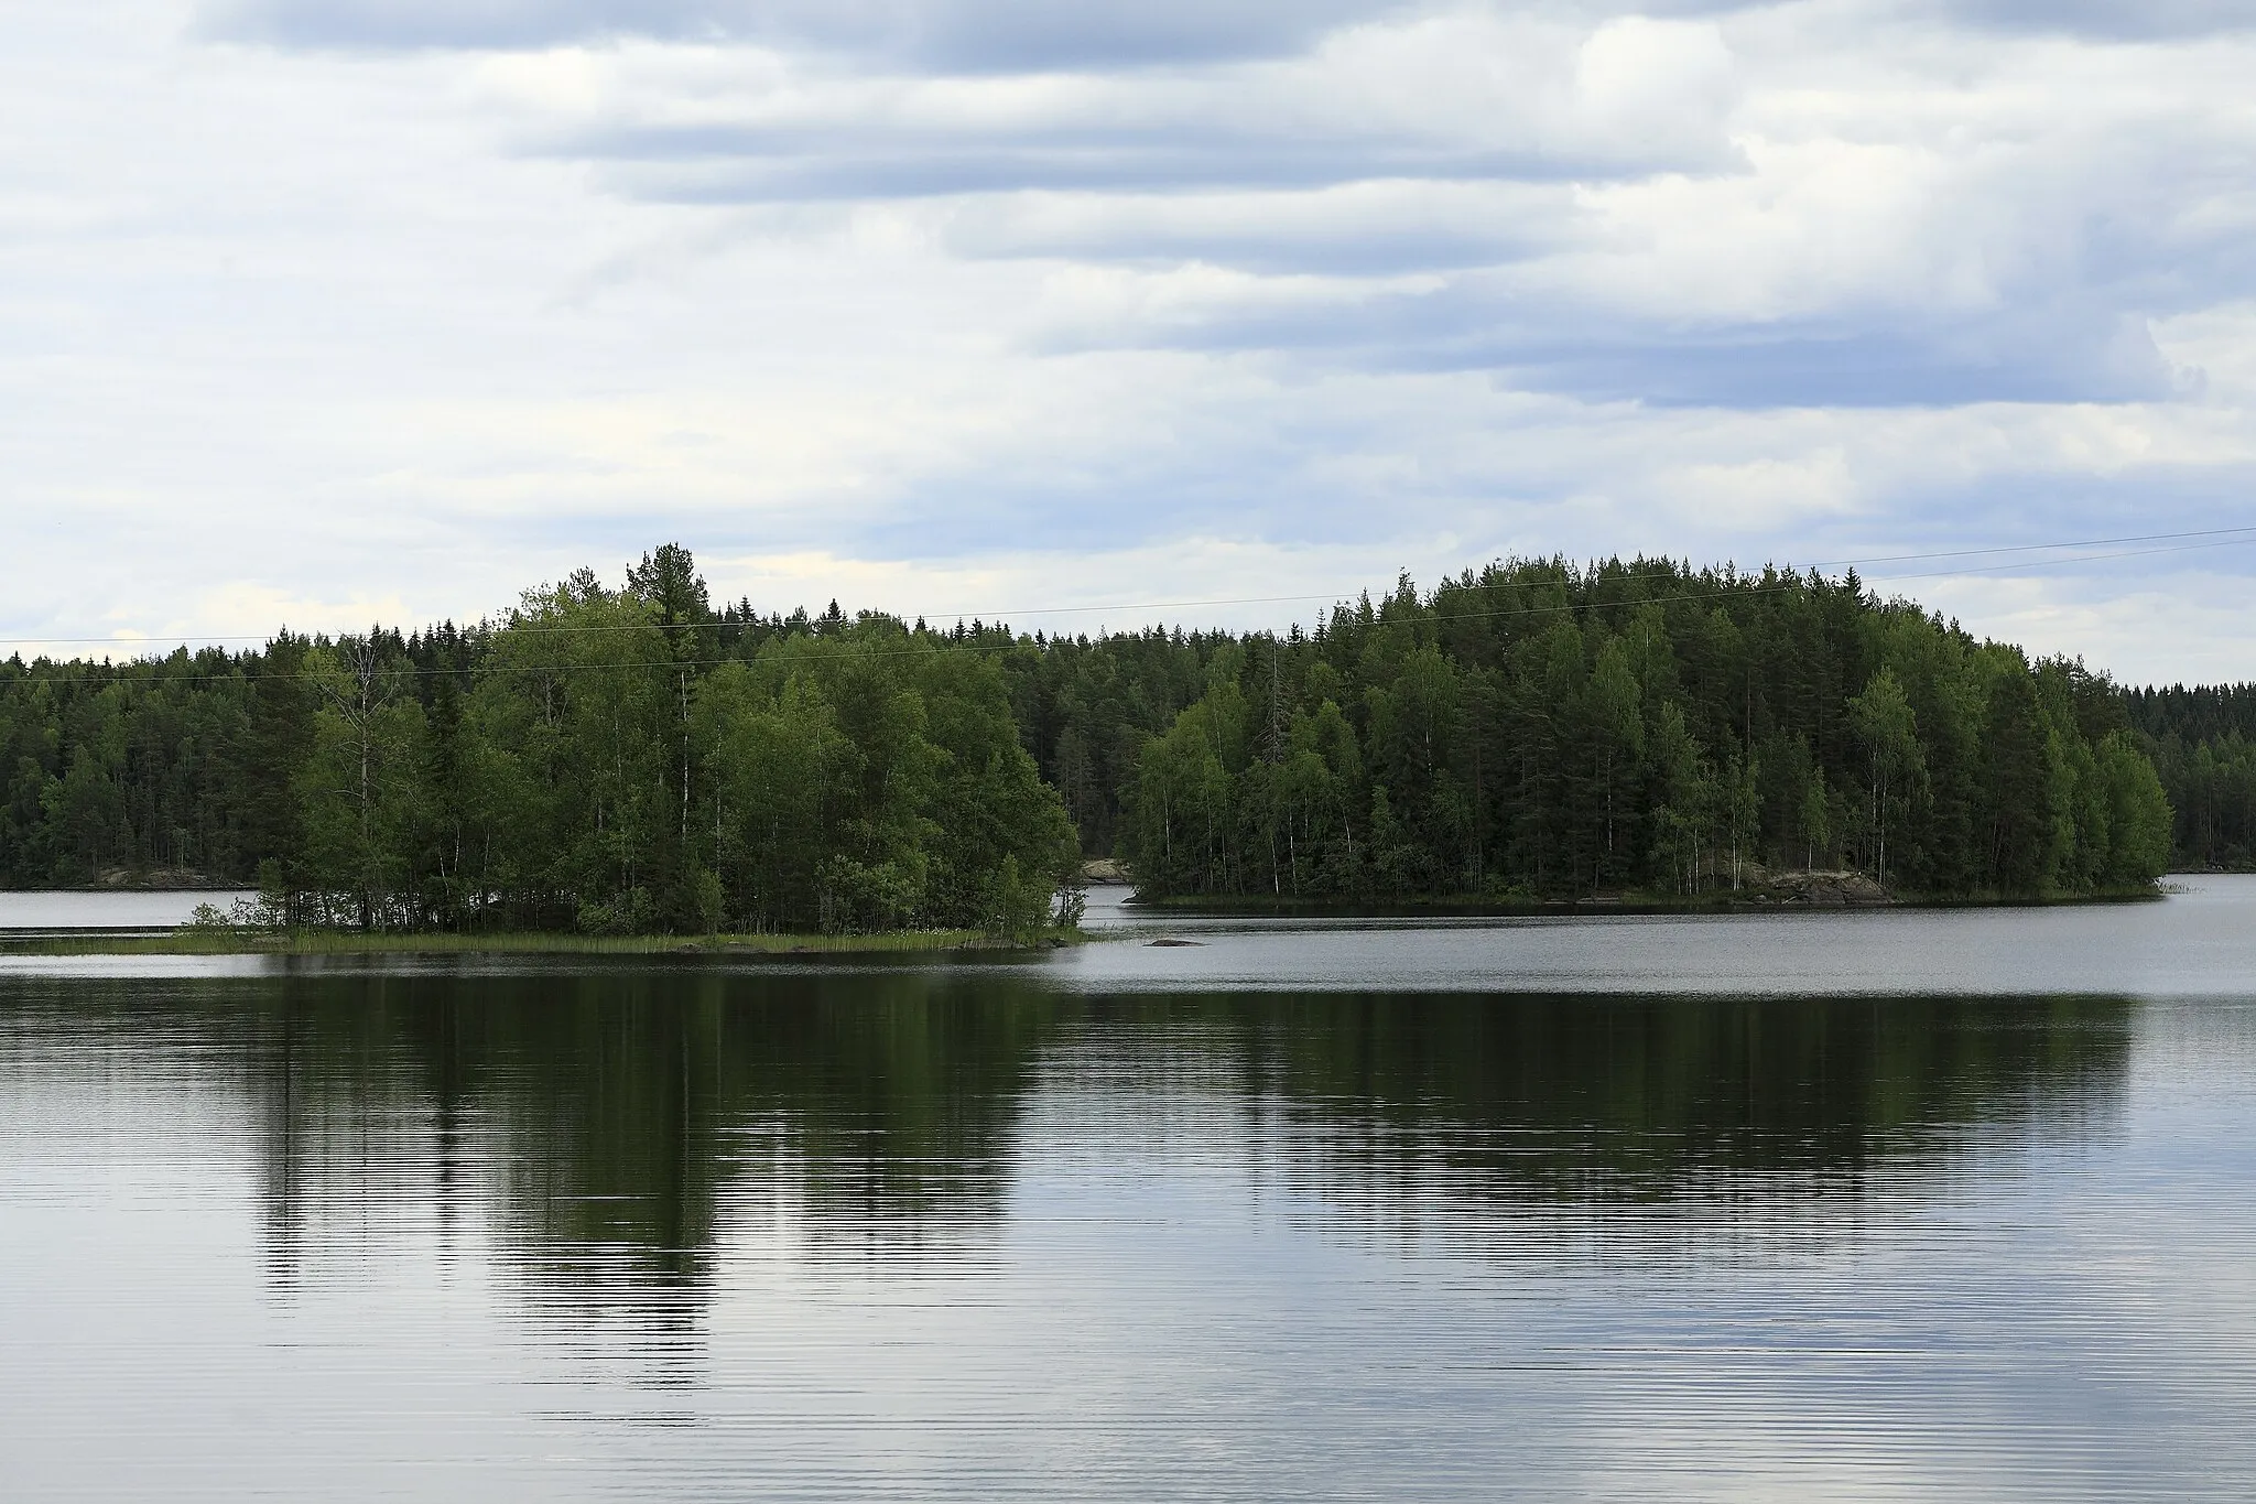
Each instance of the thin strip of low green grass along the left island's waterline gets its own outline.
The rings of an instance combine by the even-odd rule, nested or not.
[[[916,956],[945,952],[1038,952],[1087,936],[1049,929],[1033,940],[975,929],[909,929],[866,936],[578,936],[578,934],[417,934],[417,931],[257,931],[183,927],[169,934],[0,936],[0,956],[711,956],[823,958]]]

